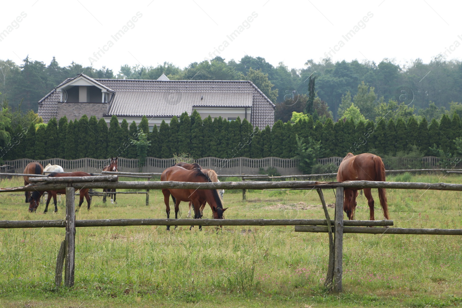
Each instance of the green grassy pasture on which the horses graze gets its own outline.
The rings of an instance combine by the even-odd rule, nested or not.
[[[131,181],[133,179],[125,179]],[[460,175],[395,175],[388,181],[462,183]],[[0,187],[22,186],[22,178]],[[462,229],[460,192],[387,190],[395,227]],[[328,204],[333,190],[324,190]],[[376,219],[382,219],[377,190]],[[324,218],[315,190],[241,191],[224,196],[225,218]],[[160,190],[119,194],[117,204],[93,197],[76,219],[164,218]],[[63,219],[59,212],[28,213],[24,194],[0,195],[0,220]],[[173,207],[172,207],[173,211]],[[186,217],[187,203],[180,216]],[[329,208],[331,217],[334,209]],[[171,216],[172,217],[172,216]],[[174,216],[173,216],[174,217]],[[210,207],[204,218],[211,217]],[[357,219],[369,218],[358,197]],[[296,233],[293,226],[164,226],[78,228],[75,286],[54,287],[64,228],[0,230],[0,307],[445,307],[462,305],[462,237],[344,235],[340,296],[323,287],[326,233]]]

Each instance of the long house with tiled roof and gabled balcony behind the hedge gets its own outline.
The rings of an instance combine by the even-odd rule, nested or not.
[[[38,102],[38,114],[47,123],[66,115],[68,120],[95,115],[109,123],[116,115],[122,122],[149,126],[169,123],[183,112],[197,110],[202,119],[211,115],[229,121],[240,117],[261,129],[274,124],[275,105],[251,81],[92,79],[85,74],[68,78]]]

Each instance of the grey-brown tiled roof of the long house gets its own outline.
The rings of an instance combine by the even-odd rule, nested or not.
[[[229,80],[91,79],[115,92],[108,115],[180,116],[194,107],[252,107],[250,121],[261,129],[274,124],[272,103],[252,82]],[[61,85],[73,79],[66,79]],[[45,122],[57,115],[60,94],[53,90],[40,100]]]

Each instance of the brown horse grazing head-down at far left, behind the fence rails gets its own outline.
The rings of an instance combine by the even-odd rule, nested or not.
[[[90,173],[79,171],[79,172],[70,172],[70,173],[52,172],[48,176],[49,177],[62,177],[62,176],[90,176],[90,175],[91,175]],[[82,203],[84,203],[84,197],[85,197],[85,199],[87,200],[87,210],[90,211],[91,199],[90,199],[90,195],[88,194],[89,190],[90,189],[88,189],[88,188],[81,188],[80,189],[79,209],[80,209],[80,206],[82,205]],[[34,191],[32,193],[32,195],[30,196],[30,199],[29,199],[29,211],[30,212],[35,212],[36,211],[36,209],[37,209],[37,207],[39,205],[40,197],[42,197],[43,193],[45,193],[45,192],[44,191]],[[55,212],[57,212],[58,211],[58,205],[56,204],[56,194],[57,193],[64,194],[64,193],[66,193],[66,189],[51,190],[51,191],[47,191],[47,193],[48,193],[47,205],[45,206],[45,211],[43,211],[43,213],[46,213],[48,211],[48,205],[50,203],[51,197],[53,197],[53,201],[55,201]]]

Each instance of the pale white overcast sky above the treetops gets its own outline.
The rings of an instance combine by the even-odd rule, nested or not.
[[[21,63],[29,54],[48,64],[55,56],[61,66],[93,62],[118,72],[123,64],[184,67],[220,49],[215,54],[226,61],[248,54],[303,68],[335,48],[334,61],[389,58],[402,66],[445,51],[447,59],[462,59],[462,46],[454,45],[462,43],[461,6],[436,0],[2,1],[0,32],[8,34],[0,36],[0,59]]]

